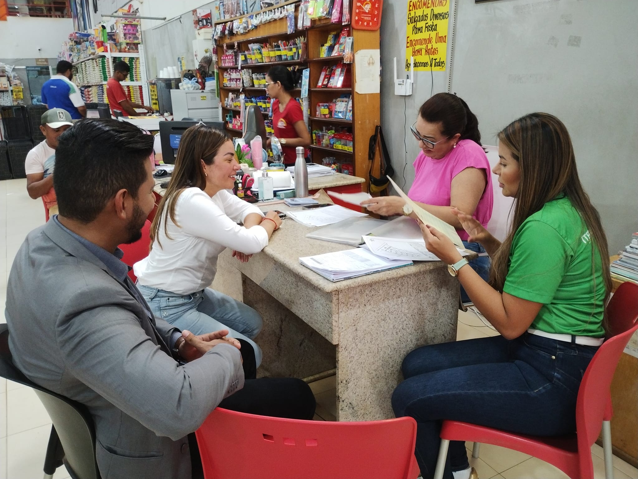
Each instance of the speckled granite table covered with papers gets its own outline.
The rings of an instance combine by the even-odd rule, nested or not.
[[[309,377],[336,368],[338,420],[392,418],[404,356],[456,340],[459,283],[440,261],[330,282],[299,257],[352,247],[306,238],[311,230],[286,218],[246,263],[225,250],[211,287],[262,315],[259,376]]]

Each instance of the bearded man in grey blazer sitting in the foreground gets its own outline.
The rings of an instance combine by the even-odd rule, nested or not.
[[[119,259],[118,245],[141,237],[154,206],[151,150],[152,136],[126,122],[85,120],[65,132],[54,178],[60,214],[29,233],[7,287],[13,361],[89,408],[103,479],[191,478],[187,435],[244,386],[239,342],[154,318]],[[311,418],[305,384],[275,389],[290,386],[286,397],[305,407],[291,416]],[[253,412],[244,406],[235,409]]]

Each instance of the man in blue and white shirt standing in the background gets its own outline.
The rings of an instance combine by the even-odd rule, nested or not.
[[[73,83],[73,65],[66,60],[57,62],[56,75],[42,86],[42,103],[49,109],[61,108],[72,119],[85,118],[86,107],[80,95],[80,89]]]

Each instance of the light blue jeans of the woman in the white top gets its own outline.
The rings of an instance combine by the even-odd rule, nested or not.
[[[230,337],[253,346],[257,367],[262,363],[262,350],[253,341],[262,330],[262,317],[253,308],[211,288],[186,295],[140,284],[137,288],[154,316],[195,335],[228,330]]]

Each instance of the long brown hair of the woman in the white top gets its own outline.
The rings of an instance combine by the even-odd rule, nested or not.
[[[164,218],[164,234],[167,238],[170,239],[167,229],[168,215],[170,215],[172,222],[179,226],[175,220],[175,204],[179,195],[186,188],[192,186],[197,186],[201,190],[206,188],[206,175],[200,160],[207,165],[212,165],[219,148],[229,140],[230,138],[225,133],[203,123],[191,126],[184,132],[177,149],[173,175],[168,181],[166,194],[159,202],[157,214],[151,224],[151,247],[155,239],[158,238],[159,223],[162,217]],[[159,238],[158,245],[161,248]]]

